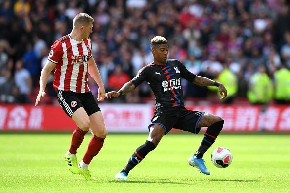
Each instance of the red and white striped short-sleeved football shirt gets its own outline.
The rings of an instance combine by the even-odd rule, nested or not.
[[[55,63],[53,87],[61,91],[84,93],[87,85],[88,61],[92,57],[91,39],[77,41],[70,35],[56,40],[48,60]]]

